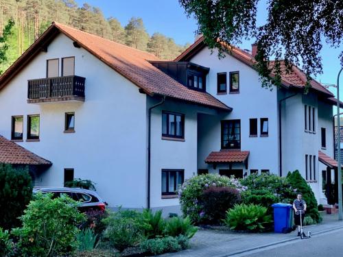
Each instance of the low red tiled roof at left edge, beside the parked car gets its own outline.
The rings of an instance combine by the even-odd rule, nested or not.
[[[4,164],[24,164],[24,165],[51,165],[49,160],[45,160],[31,151],[17,145],[0,135],[0,163]]]

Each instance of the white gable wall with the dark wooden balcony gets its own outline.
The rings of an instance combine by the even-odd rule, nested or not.
[[[46,60],[75,56],[75,75],[86,77],[86,101],[27,103],[27,79],[46,76]],[[60,64],[61,65],[61,64]],[[146,95],[60,34],[0,91],[0,134],[10,138],[12,115],[24,115],[19,145],[51,160],[38,179],[62,186],[64,168],[89,179],[109,206],[146,206]],[[64,134],[64,112],[75,112],[75,133]],[[27,114],[40,114],[40,142],[26,142]]]

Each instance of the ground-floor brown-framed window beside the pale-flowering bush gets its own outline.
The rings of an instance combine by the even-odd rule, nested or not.
[[[185,171],[182,169],[162,170],[162,195],[176,195],[176,191],[185,180]]]

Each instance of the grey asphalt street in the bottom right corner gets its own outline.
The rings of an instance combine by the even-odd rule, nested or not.
[[[343,229],[316,234],[309,239],[303,239],[274,245],[265,249],[255,250],[235,257],[343,257]]]

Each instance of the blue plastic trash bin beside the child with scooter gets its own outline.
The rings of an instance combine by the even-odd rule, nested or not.
[[[292,213],[291,204],[273,204],[274,208],[274,232],[282,233],[283,229],[290,228],[290,219]]]

